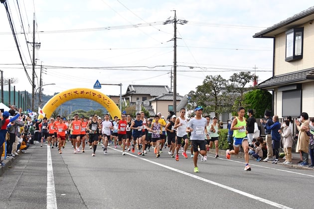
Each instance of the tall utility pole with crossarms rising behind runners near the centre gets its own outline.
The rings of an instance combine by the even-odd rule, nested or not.
[[[187,20],[181,20],[176,19],[176,11],[174,11],[174,17],[173,19],[167,19],[163,24],[173,23],[173,111],[176,113],[176,23],[184,25],[188,21]]]

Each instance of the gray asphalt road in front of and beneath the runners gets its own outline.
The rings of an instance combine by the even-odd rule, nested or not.
[[[313,208],[313,170],[251,161],[244,171],[243,159],[208,154],[194,173],[191,158],[176,162],[167,151],[123,156],[110,146],[104,155],[98,146],[93,157],[88,147],[59,154],[31,145],[0,177],[0,208]]]

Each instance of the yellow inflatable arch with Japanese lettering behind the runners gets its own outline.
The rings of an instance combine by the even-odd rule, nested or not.
[[[118,116],[120,118],[121,111],[118,106],[112,101],[108,96],[95,91],[94,89],[86,88],[77,88],[69,89],[64,92],[60,92],[51,98],[43,107],[42,111],[46,114],[46,117],[49,119],[54,110],[61,104],[74,100],[74,99],[89,99],[93,100],[99,104],[102,104],[110,113],[112,118]],[[38,118],[43,118],[42,115],[39,115]]]

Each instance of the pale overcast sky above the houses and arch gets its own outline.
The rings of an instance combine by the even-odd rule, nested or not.
[[[173,19],[177,24],[177,93],[185,95],[207,75],[225,79],[251,71],[259,83],[272,76],[272,39],[252,38],[261,30],[311,6],[310,0],[7,0],[28,75],[32,76],[32,22],[35,14],[36,88],[40,65],[43,94],[101,84],[167,85],[173,66]],[[19,9],[18,9],[19,8]],[[20,14],[19,14],[20,10]],[[20,18],[21,16],[21,18]],[[0,5],[0,70],[15,78],[16,91],[31,84]],[[21,20],[22,19],[22,20]],[[23,33],[22,25],[25,30]],[[27,49],[28,45],[28,49]],[[17,64],[17,65],[14,65]],[[255,69],[256,67],[256,69]],[[97,69],[101,68],[101,69]],[[119,95],[119,86],[102,86]]]

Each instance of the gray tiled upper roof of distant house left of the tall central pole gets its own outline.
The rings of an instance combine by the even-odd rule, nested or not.
[[[129,85],[126,94],[151,95],[152,97],[157,97],[169,93],[171,93],[171,91],[168,86]]]

